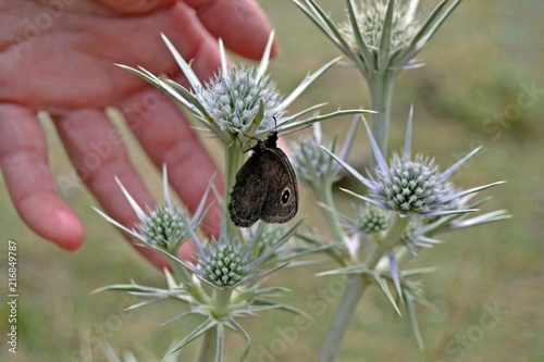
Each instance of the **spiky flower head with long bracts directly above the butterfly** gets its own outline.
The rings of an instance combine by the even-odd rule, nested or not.
[[[201,130],[213,133],[226,145],[235,145],[235,140],[239,139],[240,135],[246,135],[247,139],[242,140],[242,146],[246,147],[249,142],[255,142],[255,138],[273,130],[285,132],[341,114],[366,112],[363,110],[338,110],[329,114],[313,114],[306,120],[298,120],[323,105],[317,104],[296,114],[285,115],[287,107],[339,58],[324,64],[317,72],[308,74],[288,96],[282,97],[275,83],[267,74],[274,40],[273,32],[270,34],[261,61],[257,66],[237,66],[228,62],[223,41],[219,39],[221,65],[215,75],[205,83],[190,67],[190,61],[183,59],[164,35],[162,38],[187,78],[190,88],[184,87],[173,79],[156,76],[141,67],[133,68],[118,65],[164,91],[201,122],[205,126]],[[297,121],[295,122],[295,120]]]

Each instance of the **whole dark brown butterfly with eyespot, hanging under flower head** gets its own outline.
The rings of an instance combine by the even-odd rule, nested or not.
[[[236,174],[228,212],[236,226],[249,227],[259,219],[286,223],[298,211],[298,186],[289,159],[276,146],[277,133],[251,148],[254,154]]]

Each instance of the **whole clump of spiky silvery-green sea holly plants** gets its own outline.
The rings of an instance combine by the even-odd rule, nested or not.
[[[410,110],[407,123],[399,121],[406,125],[403,151],[391,158],[386,154],[395,80],[401,71],[422,65],[415,57],[460,0],[442,0],[429,14],[419,11],[417,0],[346,0],[347,18],[339,22],[333,21],[316,0],[294,2],[342,51],[345,60],[364,76],[371,109],[376,112],[338,110],[320,114],[323,104],[316,104],[288,113],[287,109],[309,85],[331,66],[342,63],[339,59],[330,61],[308,74],[290,95],[283,97],[267,73],[273,34],[257,66],[230,64],[219,40],[221,67],[207,82],[198,79],[190,68],[190,60],[183,59],[163,36],[190,88],[141,67],[120,65],[188,110],[196,118],[195,127],[217,137],[225,154],[225,194],[218,195],[210,183],[193,215],[172,203],[165,167],[164,201],[153,208],[137,204],[119,183],[140,220],[138,225],[125,227],[98,211],[136,244],[161,253],[170,262],[170,269],[164,271],[165,287],[143,286],[134,282],[99,290],[118,290],[140,297],[141,301],[132,309],[165,299],[176,300],[181,310],[169,323],[185,321],[190,314],[201,316],[201,323],[191,333],[176,336],[165,359],[174,359],[182,348],[201,337],[198,361],[222,361],[225,334],[234,332],[246,341],[246,348],[239,354],[239,360],[243,360],[251,339],[238,323],[242,316],[280,310],[308,317],[304,311],[279,301],[286,289],[267,287],[264,278],[294,264],[305,265],[305,262],[294,261],[318,252],[336,263],[332,270],[319,273],[320,276],[342,275],[347,280],[322,344],[320,361],[336,359],[349,322],[369,287],[378,287],[385,302],[397,313],[408,316],[416,340],[423,348],[416,304],[431,308],[432,304],[424,298],[423,286],[415,278],[434,271],[434,267],[409,269],[407,262],[423,249],[441,244],[438,237],[444,233],[509,217],[505,210],[480,213],[486,199],[477,199],[478,192],[500,182],[462,189],[450,180],[450,176],[466,166],[478,149],[446,168],[440,167],[432,152],[429,155],[411,154],[413,110]],[[362,113],[372,113],[370,124]],[[354,115],[354,121],[342,145],[338,137],[327,139],[321,133],[319,122],[347,114]],[[310,232],[301,232],[301,221],[287,226],[258,222],[251,228],[236,227],[227,205],[236,173],[249,153],[246,151],[272,132],[282,135],[310,125],[313,134],[292,145],[293,167],[322,210],[329,236],[311,233],[311,225],[306,228]],[[347,162],[360,128],[366,130],[370,145],[370,166],[366,173]],[[343,170],[366,189],[363,192],[343,189],[353,197],[351,214],[338,210],[334,202],[335,182]],[[200,230],[208,212],[205,205],[209,204],[207,199],[210,197],[222,209],[220,233],[214,237],[207,237]],[[294,236],[301,242],[292,242]],[[182,260],[178,248],[187,240],[194,242],[196,252],[191,259]],[[116,360],[111,348],[107,347],[107,352],[111,360]]]

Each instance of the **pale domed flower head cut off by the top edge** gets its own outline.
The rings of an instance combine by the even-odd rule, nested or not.
[[[385,17],[388,2],[388,0],[361,0],[359,5],[354,8],[357,28],[367,46],[372,50],[380,48],[386,24]],[[417,7],[417,1],[405,1],[394,7],[390,51],[399,47],[407,47],[421,28],[422,22],[416,12]],[[354,25],[349,16],[338,25],[338,29],[346,41],[357,48],[357,35],[354,33]]]

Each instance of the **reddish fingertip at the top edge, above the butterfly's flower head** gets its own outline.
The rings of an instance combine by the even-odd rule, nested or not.
[[[237,54],[259,60],[272,32],[267,16],[255,0],[185,0],[195,9],[208,32],[222,38]],[[277,54],[274,42],[271,57]]]

